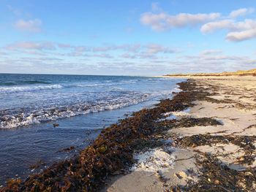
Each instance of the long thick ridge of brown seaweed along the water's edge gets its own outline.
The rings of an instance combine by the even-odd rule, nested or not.
[[[77,157],[53,164],[45,171],[26,180],[9,180],[0,191],[95,191],[115,172],[133,163],[132,153],[138,139],[146,139],[159,131],[156,120],[162,114],[192,107],[197,93],[191,91],[194,82],[179,83],[182,90],[156,107],[134,112],[131,117],[102,130],[99,137]]]

